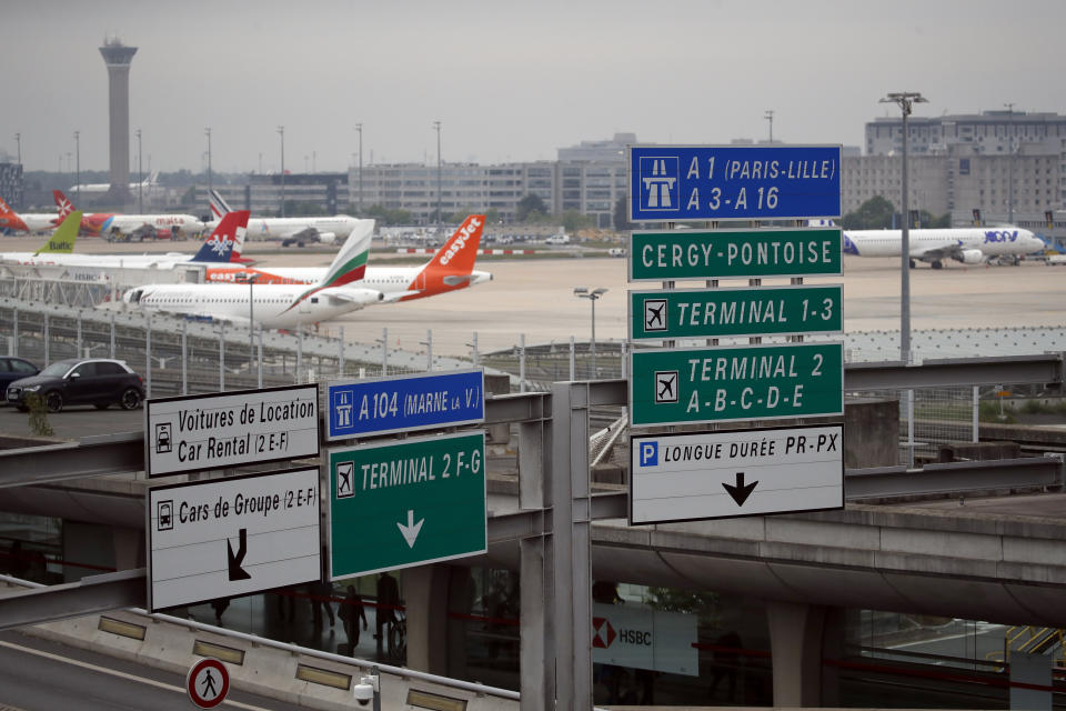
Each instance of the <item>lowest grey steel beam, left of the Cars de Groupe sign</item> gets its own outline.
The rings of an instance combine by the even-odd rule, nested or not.
[[[90,575],[61,585],[33,588],[0,597],[0,630],[109,610],[143,608],[147,598],[148,583],[143,568]]]

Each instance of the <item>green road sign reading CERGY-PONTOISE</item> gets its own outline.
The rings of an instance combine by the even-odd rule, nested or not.
[[[841,229],[633,232],[630,281],[841,273]]]

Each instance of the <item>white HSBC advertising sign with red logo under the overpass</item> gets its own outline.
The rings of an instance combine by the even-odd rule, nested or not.
[[[635,605],[592,605],[592,661],[700,675],[696,615]]]

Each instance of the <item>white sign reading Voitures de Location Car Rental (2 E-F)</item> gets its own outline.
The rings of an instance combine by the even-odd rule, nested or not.
[[[149,478],[319,455],[315,384],[144,403]]]

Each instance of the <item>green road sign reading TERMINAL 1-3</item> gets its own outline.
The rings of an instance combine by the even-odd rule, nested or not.
[[[832,286],[630,292],[630,340],[833,333],[844,328]]]

